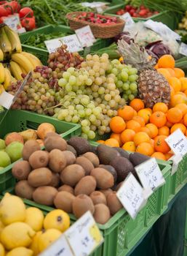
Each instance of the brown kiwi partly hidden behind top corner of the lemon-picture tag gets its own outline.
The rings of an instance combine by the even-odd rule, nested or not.
[[[77,195],[73,200],[73,214],[79,219],[87,211],[91,211],[91,214],[94,214],[95,207],[92,199],[87,195]]]

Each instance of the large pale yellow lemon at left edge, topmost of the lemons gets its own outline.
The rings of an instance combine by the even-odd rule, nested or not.
[[[25,204],[20,197],[6,193],[0,203],[0,219],[4,225],[13,222],[24,222]]]

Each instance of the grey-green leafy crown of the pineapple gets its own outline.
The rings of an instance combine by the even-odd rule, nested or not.
[[[124,39],[117,42],[118,51],[122,55],[125,64],[130,64],[137,68],[138,71],[143,69],[154,69],[156,59],[149,59],[146,49],[138,45],[138,43],[131,41],[130,44]]]

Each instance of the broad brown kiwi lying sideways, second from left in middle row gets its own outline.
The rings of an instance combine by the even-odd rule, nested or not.
[[[47,167],[32,170],[28,175],[28,184],[32,187],[46,186],[52,181],[52,172]]]

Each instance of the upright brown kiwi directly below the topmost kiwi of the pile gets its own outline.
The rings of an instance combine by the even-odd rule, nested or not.
[[[60,149],[52,149],[49,153],[49,168],[55,173],[60,173],[67,164],[63,153]]]

